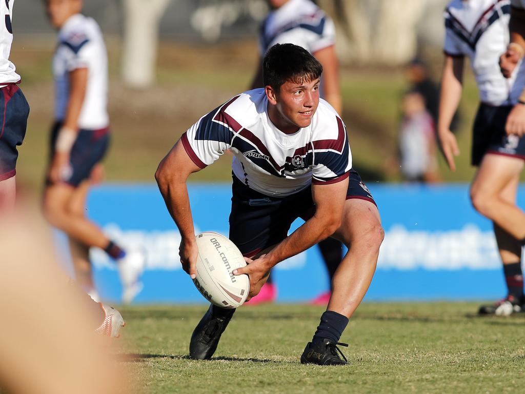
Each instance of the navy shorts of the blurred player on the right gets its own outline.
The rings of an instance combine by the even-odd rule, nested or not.
[[[511,109],[512,106],[480,104],[472,135],[472,165],[479,165],[486,153],[525,159],[525,138],[507,136],[505,132]]]

